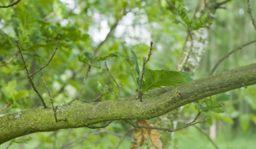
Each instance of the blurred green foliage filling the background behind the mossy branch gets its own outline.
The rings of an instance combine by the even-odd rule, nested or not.
[[[170,2],[175,5],[175,0]],[[0,0],[0,5],[9,3],[10,1]],[[251,3],[252,7],[256,7],[255,1]],[[15,55],[15,39],[19,39],[28,68],[34,72],[48,61],[59,35],[59,50],[50,65],[42,70],[51,93],[55,95],[55,105],[67,103],[79,92],[89,61],[94,61],[96,67],[89,73],[81,95],[83,100],[94,99],[100,94],[105,94],[101,101],[117,98],[118,87],[104,70],[103,61],[108,62],[117,82],[123,83],[121,97],[137,94],[135,90],[138,88],[143,57],[148,54],[150,40],[154,43],[153,54],[146,67],[150,70],[175,70],[186,40],[186,28],[198,29],[209,22],[207,16],[197,22],[192,20],[196,5],[197,0],[176,2],[176,7],[180,10],[177,11],[177,18],[182,20],[177,21],[173,9],[165,0],[22,0],[13,7],[0,8],[0,64],[8,62]],[[186,78],[187,82],[192,78],[207,76],[220,57],[255,38],[246,9],[245,1],[232,1],[226,5],[226,9],[216,11],[200,67],[194,76],[181,72],[189,76]],[[115,26],[116,22],[118,25]],[[115,30],[94,53],[111,27]],[[255,48],[254,44],[237,51],[218,67],[217,73],[256,62]],[[0,116],[41,105],[28,82],[20,56],[11,64],[0,67],[0,79]],[[33,80],[46,103],[50,104],[39,74],[33,76]],[[63,85],[65,88],[59,94]],[[178,126],[182,126],[183,121],[187,122],[201,109],[204,111],[201,117],[209,117],[209,120],[198,126],[208,131],[210,126],[217,124],[216,143],[220,148],[251,148],[256,139],[255,97],[256,86],[252,85],[247,89],[236,89],[202,99],[199,101],[202,107],[197,103],[188,104],[182,110],[182,122],[178,122]],[[80,103],[82,102],[75,102]],[[107,129],[126,135],[127,138],[100,133],[83,139],[70,148],[115,148],[121,140],[123,142],[120,148],[128,148],[133,133],[130,125],[113,122]],[[57,133],[30,134],[14,140],[10,149],[61,148],[92,132],[95,130],[78,128],[60,130]],[[28,139],[30,137],[33,139]],[[170,136],[164,137],[166,138],[161,139],[170,139]],[[9,143],[1,147],[5,148]],[[146,142],[142,148],[147,148],[147,145],[150,142]],[[166,148],[185,149],[196,145],[198,149],[213,148],[206,137],[190,127],[175,132],[171,144]]]

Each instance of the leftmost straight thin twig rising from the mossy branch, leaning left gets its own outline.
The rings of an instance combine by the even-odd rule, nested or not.
[[[17,40],[15,40],[15,41],[16,41],[16,43],[17,43],[18,51],[20,52],[21,59],[22,59],[23,64],[24,64],[24,68],[25,68],[25,70],[26,70],[26,72],[27,72],[27,77],[28,77],[28,79],[29,79],[29,81],[30,81],[30,83],[31,83],[31,85],[32,85],[32,87],[33,87],[33,89],[34,89],[34,91],[35,91],[35,92],[37,93],[37,95],[39,96],[39,98],[40,98],[40,100],[41,100],[41,102],[42,102],[42,104],[43,104],[43,106],[44,106],[44,109],[46,109],[46,108],[47,108],[47,107],[46,107],[46,103],[44,102],[42,96],[41,96],[40,93],[38,92],[37,87],[36,87],[36,85],[34,84],[34,82],[33,82],[33,80],[32,80],[32,77],[30,76],[30,72],[28,71],[28,68],[27,68],[27,65],[26,65],[26,61],[25,61],[25,59],[24,59],[24,57],[23,57],[23,54],[22,54],[22,50],[21,50],[21,47],[20,47],[19,40],[17,39]]]

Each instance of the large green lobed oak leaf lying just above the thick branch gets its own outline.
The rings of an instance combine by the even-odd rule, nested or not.
[[[170,70],[151,70],[145,68],[145,81],[142,83],[142,92],[162,86],[177,86],[178,84],[186,83],[186,75],[178,71]]]

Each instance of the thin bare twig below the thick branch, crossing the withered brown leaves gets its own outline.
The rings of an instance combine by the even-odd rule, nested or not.
[[[134,128],[146,128],[146,129],[157,129],[157,130],[163,130],[163,131],[168,131],[168,132],[175,132],[175,131],[178,131],[180,129],[184,129],[184,128],[187,128],[188,126],[191,126],[191,125],[196,125],[197,123],[203,123],[203,122],[206,122],[209,118],[206,118],[205,120],[203,121],[198,121],[198,122],[190,122],[182,127],[178,127],[176,129],[170,129],[170,128],[160,128],[160,127],[150,127],[150,126],[139,126],[137,125],[135,122],[133,121],[130,121],[130,120],[124,120],[126,121],[127,123],[130,123]]]

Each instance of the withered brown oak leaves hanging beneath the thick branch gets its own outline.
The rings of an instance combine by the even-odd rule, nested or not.
[[[139,126],[154,127],[153,124],[146,120],[140,120]],[[160,140],[161,133],[155,129],[137,128],[133,134],[134,142],[130,145],[130,149],[137,149],[142,146],[144,142],[150,138],[151,143],[157,148],[162,149],[162,142]]]

